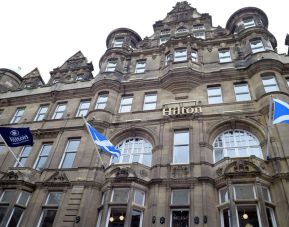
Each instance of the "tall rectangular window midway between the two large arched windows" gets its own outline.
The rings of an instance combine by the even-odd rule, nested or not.
[[[173,163],[189,163],[189,130],[174,132]]]

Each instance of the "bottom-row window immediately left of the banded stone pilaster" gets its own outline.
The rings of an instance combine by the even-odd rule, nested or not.
[[[62,192],[49,192],[47,199],[42,206],[42,213],[37,227],[53,226],[53,222],[60,206]]]

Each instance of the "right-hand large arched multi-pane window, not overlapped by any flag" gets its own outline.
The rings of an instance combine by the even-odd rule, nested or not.
[[[214,141],[214,160],[224,157],[249,157],[255,155],[263,159],[259,140],[251,133],[235,129],[221,133]]]

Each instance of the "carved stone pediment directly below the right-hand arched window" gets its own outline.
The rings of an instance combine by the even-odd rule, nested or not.
[[[261,169],[253,162],[241,159],[228,164],[224,168],[219,168],[217,170],[217,174],[219,176],[244,175],[244,174],[259,175],[261,174]]]

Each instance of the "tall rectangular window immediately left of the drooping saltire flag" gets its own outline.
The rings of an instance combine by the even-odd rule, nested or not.
[[[80,139],[68,140],[59,168],[72,168],[79,144]]]

